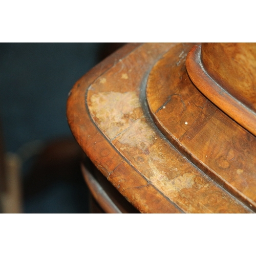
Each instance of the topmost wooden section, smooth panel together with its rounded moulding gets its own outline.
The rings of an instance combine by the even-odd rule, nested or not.
[[[256,136],[256,45],[202,44],[187,54],[195,86],[218,108]]]

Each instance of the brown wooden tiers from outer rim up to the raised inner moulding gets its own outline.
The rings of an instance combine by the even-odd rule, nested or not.
[[[255,137],[191,82],[193,47],[129,44],[99,63],[70,92],[71,131],[140,212],[253,212]]]

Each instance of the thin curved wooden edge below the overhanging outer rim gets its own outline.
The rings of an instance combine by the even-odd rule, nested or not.
[[[89,170],[81,164],[81,170],[86,183],[100,207],[107,214],[122,214],[122,211],[114,204],[108,194],[105,193],[104,189],[97,182],[97,180],[90,174]]]

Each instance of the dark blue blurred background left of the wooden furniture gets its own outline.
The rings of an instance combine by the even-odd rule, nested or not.
[[[76,80],[108,55],[109,46],[0,44],[0,122],[6,151],[17,153],[26,143],[72,137],[66,118],[68,93]],[[86,212],[88,202],[84,205],[84,197],[79,199],[84,193],[79,189],[56,182],[25,201],[24,212]]]

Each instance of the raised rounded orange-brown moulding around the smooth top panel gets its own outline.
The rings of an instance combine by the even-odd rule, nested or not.
[[[226,92],[207,74],[200,56],[201,47],[196,45],[187,54],[186,69],[189,78],[211,102],[256,136],[256,114]]]

